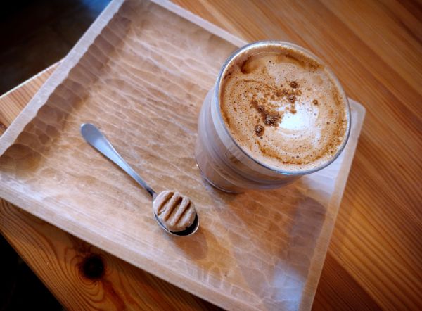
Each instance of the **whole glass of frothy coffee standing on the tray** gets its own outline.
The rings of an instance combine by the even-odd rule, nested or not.
[[[332,163],[349,133],[347,96],[319,58],[255,42],[226,60],[205,97],[196,163],[223,191],[274,189]]]

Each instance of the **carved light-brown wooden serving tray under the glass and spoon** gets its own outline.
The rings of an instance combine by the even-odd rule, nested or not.
[[[364,108],[326,169],[276,191],[229,195],[200,178],[196,122],[223,61],[245,44],[165,1],[113,1],[0,137],[0,196],[212,303],[307,310]],[[151,198],[88,146],[92,122],[156,191],[196,203],[200,230],[165,234]]]

